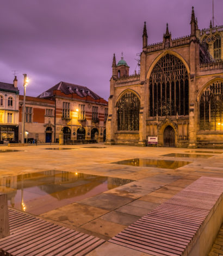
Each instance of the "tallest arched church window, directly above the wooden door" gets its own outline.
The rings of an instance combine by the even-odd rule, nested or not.
[[[150,116],[188,115],[188,72],[176,56],[159,59],[150,75]]]

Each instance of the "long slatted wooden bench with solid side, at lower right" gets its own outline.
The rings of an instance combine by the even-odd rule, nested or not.
[[[223,220],[223,179],[201,177],[109,242],[154,256],[206,256]]]

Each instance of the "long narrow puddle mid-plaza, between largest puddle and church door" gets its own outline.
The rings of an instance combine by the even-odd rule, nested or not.
[[[164,169],[177,169],[191,162],[135,158],[135,159],[123,160],[123,161],[118,161],[113,163],[125,164],[128,166],[144,166],[144,167],[156,167],[156,168],[164,168]]]

